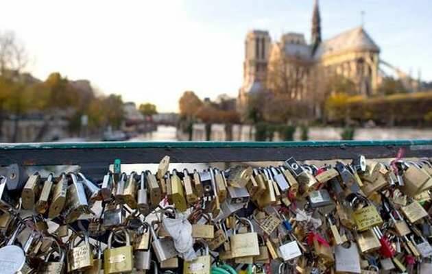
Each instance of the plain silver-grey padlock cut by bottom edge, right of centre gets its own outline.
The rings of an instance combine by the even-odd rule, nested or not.
[[[360,273],[360,256],[355,242],[335,246],[335,270],[337,273]]]

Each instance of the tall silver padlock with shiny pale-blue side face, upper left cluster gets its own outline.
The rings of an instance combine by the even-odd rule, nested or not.
[[[69,175],[72,184],[67,188],[66,202],[62,212],[66,223],[72,223],[80,218],[81,214],[90,212],[84,186],[81,182],[78,182],[75,174],[69,173]]]

